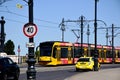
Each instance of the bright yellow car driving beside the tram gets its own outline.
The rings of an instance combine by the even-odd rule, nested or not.
[[[80,57],[75,65],[76,71],[79,70],[94,70],[94,58],[93,57]],[[100,63],[98,62],[98,69],[100,69]]]

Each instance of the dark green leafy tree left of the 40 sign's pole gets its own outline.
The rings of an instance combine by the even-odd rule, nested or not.
[[[14,48],[15,48],[15,45],[14,45],[13,41],[8,40],[5,43],[4,51],[7,53],[7,55],[15,55]]]

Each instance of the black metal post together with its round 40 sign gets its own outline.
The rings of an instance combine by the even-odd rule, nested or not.
[[[28,0],[28,11],[29,11],[29,23],[23,27],[25,36],[29,37],[28,43],[28,68],[27,68],[27,80],[36,80],[36,70],[34,58],[34,36],[37,33],[37,26],[33,23],[33,0]]]

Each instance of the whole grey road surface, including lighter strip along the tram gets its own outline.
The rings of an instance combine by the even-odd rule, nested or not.
[[[118,68],[120,64],[103,64],[101,69]],[[36,80],[65,80],[67,77],[82,74],[86,71],[76,72],[73,65],[58,67],[36,67]],[[19,80],[27,80],[26,68],[21,69]]]

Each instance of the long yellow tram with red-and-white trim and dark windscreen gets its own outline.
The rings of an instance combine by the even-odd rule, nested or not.
[[[39,45],[40,65],[66,65],[75,64],[81,56],[94,57],[95,51],[93,44],[70,43],[61,41],[46,41]],[[98,61],[100,63],[112,63],[113,58],[115,62],[120,62],[120,48],[114,49],[114,56],[112,56],[111,46],[97,45]],[[81,53],[82,52],[82,53]]]

